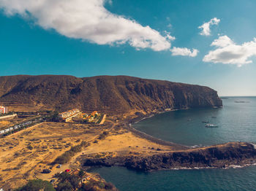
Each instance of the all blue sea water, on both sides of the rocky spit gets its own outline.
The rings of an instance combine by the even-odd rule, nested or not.
[[[220,109],[165,112],[142,120],[134,128],[151,136],[198,147],[228,141],[256,142],[256,97],[222,98]],[[203,121],[218,125],[206,128]],[[119,190],[256,190],[256,166],[139,173],[127,168],[94,168]]]

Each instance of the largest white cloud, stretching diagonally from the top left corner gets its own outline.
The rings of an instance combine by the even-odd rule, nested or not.
[[[97,44],[124,44],[137,49],[169,50],[169,36],[162,36],[149,26],[115,15],[105,9],[110,0],[0,0],[7,15],[32,17],[45,29]]]

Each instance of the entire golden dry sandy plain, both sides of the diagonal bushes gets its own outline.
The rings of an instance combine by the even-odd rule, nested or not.
[[[104,131],[108,135],[99,138]],[[97,143],[94,141],[97,140]],[[69,163],[61,168],[52,166],[56,157],[80,144],[81,141],[91,145],[77,153]],[[161,149],[157,151],[157,148]],[[0,187],[19,187],[29,179],[52,179],[53,175],[67,168],[78,168],[81,155],[110,153],[122,155],[140,153],[152,155],[167,152],[171,147],[162,146],[146,139],[134,136],[118,127],[113,120],[105,120],[105,125],[75,125],[61,122],[44,122],[19,133],[0,139]],[[42,170],[51,169],[50,174],[41,174]]]

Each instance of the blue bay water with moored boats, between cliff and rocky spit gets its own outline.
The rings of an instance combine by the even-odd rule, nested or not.
[[[202,121],[218,125],[219,128],[205,128],[206,124]],[[223,108],[166,112],[138,122],[134,126],[159,139],[188,146],[208,146],[227,141],[254,142],[256,98],[225,98]]]

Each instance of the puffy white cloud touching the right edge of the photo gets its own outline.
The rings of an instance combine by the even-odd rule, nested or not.
[[[236,64],[240,67],[246,63],[252,63],[249,58],[256,55],[256,38],[251,42],[238,45],[228,36],[219,36],[211,46],[217,49],[208,52],[208,55],[203,58],[204,62]]]

